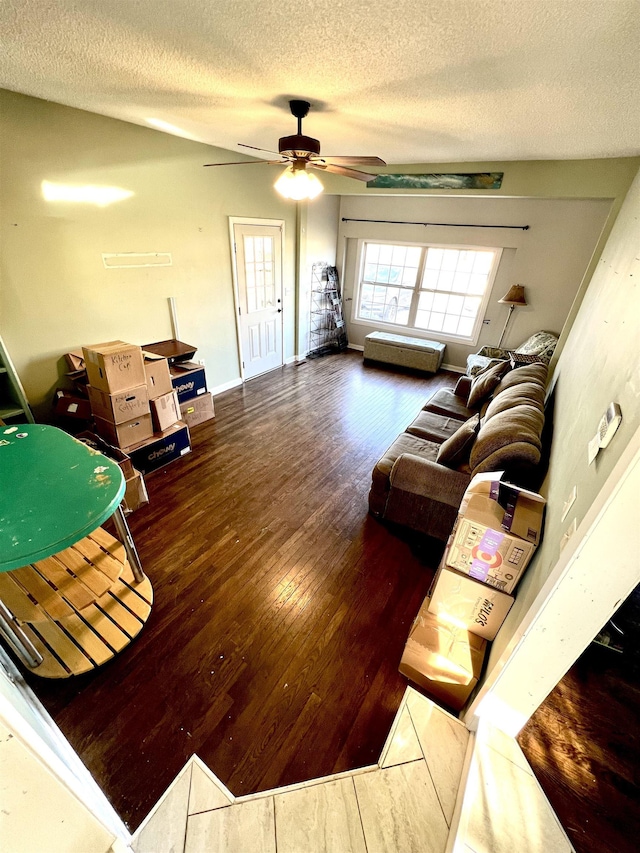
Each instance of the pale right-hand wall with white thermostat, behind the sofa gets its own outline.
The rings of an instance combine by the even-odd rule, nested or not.
[[[547,514],[543,542],[518,588],[516,603],[493,643],[489,671],[532,607],[560,554],[573,519],[578,527],[640,426],[640,172],[629,190],[555,371],[554,439],[543,486]],[[622,409],[612,443],[591,465],[587,444],[610,402]],[[577,500],[563,521],[572,486]],[[636,513],[637,515],[637,513]],[[616,571],[617,550],[637,550],[637,531],[621,526],[611,541],[602,583]],[[574,543],[572,543],[574,544]],[[594,634],[601,626],[594,630]]]

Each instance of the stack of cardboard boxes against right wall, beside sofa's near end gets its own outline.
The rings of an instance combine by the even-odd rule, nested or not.
[[[460,710],[542,532],[545,500],[480,474],[467,488],[434,578],[409,633],[400,672]]]

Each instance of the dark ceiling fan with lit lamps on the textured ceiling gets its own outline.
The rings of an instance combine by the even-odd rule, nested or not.
[[[301,200],[315,198],[324,189],[318,178],[309,169],[319,169],[333,172],[345,178],[355,178],[358,181],[372,181],[376,175],[352,169],[351,166],[386,166],[379,157],[322,157],[320,142],[302,133],[302,119],[309,113],[308,101],[289,101],[291,114],[298,120],[298,132],[293,136],[283,136],[278,142],[278,151],[257,148],[255,145],[244,145],[254,151],[264,151],[266,154],[278,154],[280,160],[242,160],[236,163],[206,163],[206,166],[252,166],[264,164],[269,166],[286,165],[287,168],[275,183],[275,187],[285,198]]]

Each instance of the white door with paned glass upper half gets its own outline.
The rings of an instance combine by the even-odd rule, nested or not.
[[[282,366],[282,231],[233,224],[244,379]]]

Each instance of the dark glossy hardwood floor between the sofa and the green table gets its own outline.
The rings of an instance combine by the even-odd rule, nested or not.
[[[193,753],[236,795],[377,761],[442,546],[368,516],[371,470],[456,378],[288,366],[216,397],[193,453],[147,478],[147,625],[91,675],[29,676],[132,830]]]

